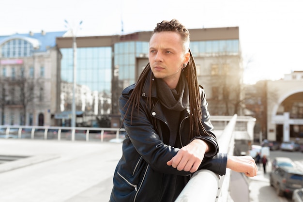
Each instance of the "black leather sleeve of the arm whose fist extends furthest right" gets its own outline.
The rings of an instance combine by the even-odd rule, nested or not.
[[[178,171],[172,166],[167,166],[167,161],[175,156],[180,149],[163,143],[149,120],[150,115],[146,112],[145,106],[140,104],[139,109],[134,109],[131,119],[131,106],[129,106],[129,110],[127,110],[128,106],[125,106],[128,98],[129,93],[122,93],[119,99],[121,116],[124,118],[124,128],[127,133],[127,138],[130,140],[123,142],[123,147],[127,147],[125,150],[129,152],[128,155],[132,155],[133,158],[136,159],[135,155],[137,153],[142,156],[155,171],[185,176],[192,174],[191,172]],[[131,151],[132,148],[134,148],[136,153]],[[220,168],[220,172],[216,173],[225,173],[225,161],[224,157],[205,158],[201,164],[201,169],[205,168],[215,172]]]

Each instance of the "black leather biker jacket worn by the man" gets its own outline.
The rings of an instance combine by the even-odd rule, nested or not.
[[[149,79],[145,82],[141,93],[140,109],[134,110],[132,124],[130,115],[124,120],[126,139],[122,144],[122,157],[114,172],[114,187],[110,196],[110,202],[157,202],[157,196],[161,193],[162,178],[165,173],[189,176],[192,173],[178,171],[172,166],[167,166],[167,161],[180,150],[163,142],[163,134],[169,132],[166,117],[163,114],[157,99],[155,85],[152,85],[152,109],[145,106],[149,93]],[[124,117],[124,108],[135,84],[123,90],[119,99],[121,116]],[[205,154],[199,169],[208,169],[219,175],[226,172],[227,155],[217,154],[218,144],[213,133],[213,126],[207,109],[207,102],[203,89],[200,89],[203,125],[211,136],[197,136],[194,139],[203,139],[212,147],[212,152]],[[129,113],[128,113],[129,114]],[[155,127],[154,125],[157,125]],[[189,109],[182,111],[179,138],[182,146],[190,141],[189,131]],[[155,129],[157,128],[157,130]]]

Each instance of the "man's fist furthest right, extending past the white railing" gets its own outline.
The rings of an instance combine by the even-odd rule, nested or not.
[[[226,167],[236,172],[243,172],[247,177],[254,177],[258,173],[256,162],[249,155],[228,155]]]

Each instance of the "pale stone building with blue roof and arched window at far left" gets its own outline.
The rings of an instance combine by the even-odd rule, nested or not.
[[[0,36],[0,124],[56,124],[60,81],[56,37],[64,33]]]

